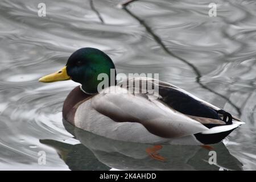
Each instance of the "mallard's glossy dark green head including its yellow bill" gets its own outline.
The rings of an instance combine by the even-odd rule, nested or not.
[[[96,48],[81,48],[72,53],[67,65],[60,71],[40,78],[40,82],[55,82],[64,80],[73,80],[82,85],[82,90],[86,93],[97,93],[98,75],[105,73],[109,78],[110,72],[114,71],[115,66],[108,55]],[[112,75],[113,76],[113,75]]]

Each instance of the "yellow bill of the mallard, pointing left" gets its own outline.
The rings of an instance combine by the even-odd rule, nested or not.
[[[71,80],[71,77],[68,76],[67,73],[67,67],[62,68],[59,72],[52,73],[51,75],[47,75],[39,79],[40,82],[44,83],[64,80]]]

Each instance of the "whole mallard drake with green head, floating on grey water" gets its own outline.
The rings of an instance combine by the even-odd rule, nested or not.
[[[72,53],[63,69],[39,81],[79,82],[81,85],[64,101],[63,118],[82,130],[110,139],[151,144],[213,144],[243,124],[227,111],[153,78],[135,77],[122,83],[153,84],[158,87],[158,98],[154,100],[147,90],[129,93],[134,84],[117,81],[98,92],[98,75],[105,73],[110,77],[111,70],[115,71],[115,65],[104,52],[81,48]],[[113,89],[114,92],[109,91]]]

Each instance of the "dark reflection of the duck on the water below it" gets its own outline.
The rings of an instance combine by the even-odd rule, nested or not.
[[[54,147],[69,168],[78,170],[110,169],[121,170],[241,170],[242,164],[232,156],[221,142],[214,144],[217,165],[208,163],[209,151],[199,146],[164,145],[160,154],[166,162],[159,162],[148,157],[145,150],[148,144],[122,142],[108,139],[88,131],[73,127],[64,121],[65,128],[82,144],[65,144],[55,140],[40,140],[41,143]],[[89,148],[89,150],[88,150]],[[92,155],[92,152],[94,155]],[[102,164],[103,163],[103,164]],[[106,166],[104,166],[104,164]],[[108,166],[108,167],[107,167]]]

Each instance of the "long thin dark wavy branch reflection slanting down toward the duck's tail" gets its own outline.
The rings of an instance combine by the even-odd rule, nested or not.
[[[159,38],[158,35],[156,35],[154,33],[154,31],[152,31],[152,29],[150,28],[150,26],[148,26],[142,19],[140,19],[138,16],[136,16],[135,14],[131,13],[130,10],[127,9],[127,5],[130,3],[130,2],[133,2],[133,1],[129,1],[129,2],[126,2],[125,5],[123,5],[123,10],[126,11],[127,14],[129,14],[130,16],[133,16],[134,19],[138,20],[139,23],[142,24],[142,26],[144,26],[144,28],[146,28],[146,31],[155,39],[155,41],[160,45],[160,47],[162,47],[162,49],[170,56],[172,57],[175,57],[176,59],[179,59],[180,61],[182,61],[183,63],[187,64],[189,67],[191,67],[193,69],[193,71],[196,73],[196,82],[201,86],[201,88],[204,88],[206,90],[209,90],[210,92],[216,94],[217,96],[220,96],[222,98],[224,98],[226,101],[229,102],[230,105],[232,105],[236,110],[237,110],[237,113],[238,115],[240,116],[241,115],[241,111],[240,111],[240,108],[238,106],[236,106],[232,101],[229,100],[228,97],[226,96],[222,96],[222,94],[220,93],[217,93],[216,91],[208,88],[206,85],[202,84],[201,83],[201,73],[199,71],[199,69],[197,69],[195,67],[195,65],[189,63],[187,60],[183,59],[182,57],[176,55],[175,53],[171,52],[165,45],[164,43],[162,42],[162,40]]]

